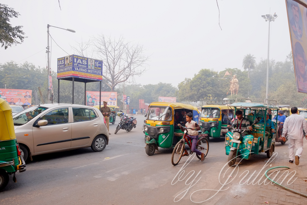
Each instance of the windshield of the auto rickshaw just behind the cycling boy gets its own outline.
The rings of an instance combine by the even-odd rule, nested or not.
[[[147,120],[171,121],[172,108],[166,106],[150,106]]]

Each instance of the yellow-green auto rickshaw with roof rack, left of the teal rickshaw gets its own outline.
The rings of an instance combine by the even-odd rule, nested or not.
[[[211,100],[201,108],[199,126],[204,134],[209,137],[220,138],[225,137],[228,132],[227,125],[231,124],[231,119],[235,113],[233,107],[229,106],[235,100]]]

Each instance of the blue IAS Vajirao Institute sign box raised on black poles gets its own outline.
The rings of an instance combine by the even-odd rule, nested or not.
[[[57,79],[82,78],[102,81],[102,61],[70,55],[57,59]]]

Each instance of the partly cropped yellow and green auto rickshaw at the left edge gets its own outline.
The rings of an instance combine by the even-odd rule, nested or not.
[[[2,191],[9,182],[9,175],[13,174],[13,180],[17,182],[15,172],[26,170],[15,136],[12,108],[2,98],[0,98],[0,124],[0,191]]]

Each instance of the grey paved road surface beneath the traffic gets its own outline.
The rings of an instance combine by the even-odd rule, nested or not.
[[[189,186],[191,188],[177,204],[191,204],[191,200],[200,202],[211,196],[211,199],[200,204],[255,202],[261,185],[239,185],[239,175],[235,177],[233,174],[234,181],[221,188],[218,177],[227,162],[224,139],[211,139],[204,162],[196,157],[190,158],[191,162],[182,169],[188,157],[183,157],[180,164],[173,166],[172,149],[160,149],[153,156],[146,155],[142,133],[144,119],[144,116],[138,115],[137,128],[129,133],[120,130],[114,134],[118,120],[110,125],[112,134],[109,145],[102,152],[82,148],[33,157],[33,161],[27,163],[27,171],[17,173],[18,182],[13,183],[10,179],[8,186],[0,193],[0,204],[175,204],[175,197],[179,195],[175,199],[179,200]],[[279,153],[287,152],[287,143],[278,143],[277,150]],[[107,157],[110,158],[105,159]],[[259,171],[265,160],[264,153],[244,160],[239,174],[245,170],[251,173]],[[177,175],[180,170],[185,172]],[[222,183],[225,181],[222,176],[220,179]],[[191,181],[192,184],[189,184]],[[220,188],[227,190],[214,195],[217,191],[212,190]],[[210,190],[193,193],[201,189]],[[183,194],[180,195],[181,192]]]

